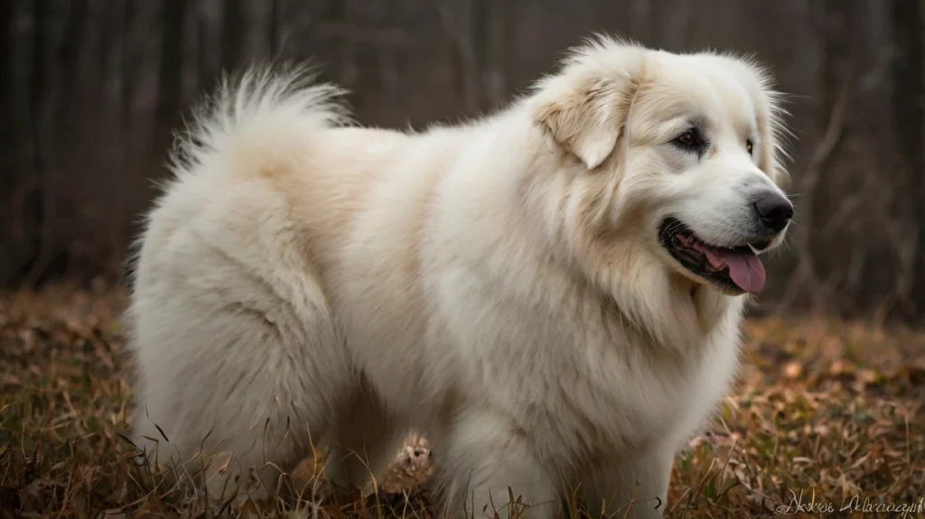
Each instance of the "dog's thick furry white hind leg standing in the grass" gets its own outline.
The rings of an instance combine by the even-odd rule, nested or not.
[[[294,308],[246,278],[203,289],[208,275],[165,275],[135,296],[135,441],[197,492],[271,497],[353,378],[317,287]]]

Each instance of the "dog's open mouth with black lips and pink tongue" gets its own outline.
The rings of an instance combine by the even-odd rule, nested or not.
[[[705,243],[675,218],[660,226],[662,247],[668,249],[685,269],[727,292],[757,294],[764,286],[764,264],[756,251],[770,242],[758,241],[738,247],[716,247]]]

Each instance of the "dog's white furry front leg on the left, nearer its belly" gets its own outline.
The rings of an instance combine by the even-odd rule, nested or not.
[[[475,519],[553,519],[559,495],[526,434],[495,413],[460,416],[432,451],[446,507],[435,512]]]

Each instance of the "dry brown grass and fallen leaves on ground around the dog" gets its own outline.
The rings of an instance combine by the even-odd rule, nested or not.
[[[122,301],[118,290],[64,287],[0,298],[0,518],[216,513],[129,460]],[[904,506],[925,516],[923,404],[925,333],[753,321],[741,380],[676,459],[668,516],[893,517]],[[401,488],[417,476],[396,467],[378,496],[347,506],[249,510],[411,516],[423,500]]]

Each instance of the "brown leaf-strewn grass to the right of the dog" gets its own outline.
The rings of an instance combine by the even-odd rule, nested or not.
[[[675,462],[673,506],[925,514],[925,335],[768,319],[749,323],[746,338],[742,376],[714,427]]]

